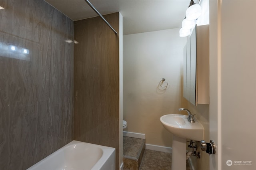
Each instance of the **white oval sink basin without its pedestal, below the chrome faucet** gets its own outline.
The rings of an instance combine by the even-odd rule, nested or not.
[[[164,128],[172,134],[185,139],[203,140],[204,127],[195,119],[195,123],[187,120],[187,115],[164,115],[160,117],[160,121]]]

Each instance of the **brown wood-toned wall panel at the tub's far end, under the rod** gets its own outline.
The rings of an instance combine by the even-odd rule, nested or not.
[[[118,30],[119,14],[104,18]],[[101,18],[74,22],[74,139],[116,148],[119,169],[119,40]]]

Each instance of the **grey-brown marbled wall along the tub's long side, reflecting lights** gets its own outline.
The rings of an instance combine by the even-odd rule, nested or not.
[[[42,0],[0,6],[0,169],[24,170],[73,140],[74,22]]]

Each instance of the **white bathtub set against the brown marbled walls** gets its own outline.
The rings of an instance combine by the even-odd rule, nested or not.
[[[115,150],[73,140],[27,170],[115,170]]]

